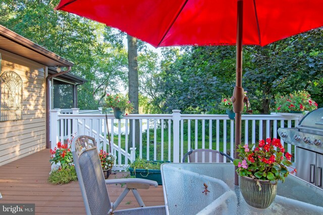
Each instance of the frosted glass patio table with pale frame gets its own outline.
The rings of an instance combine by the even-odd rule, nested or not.
[[[245,202],[232,163],[167,163],[161,178],[167,214],[323,214],[323,190],[293,175],[278,183],[266,209]]]

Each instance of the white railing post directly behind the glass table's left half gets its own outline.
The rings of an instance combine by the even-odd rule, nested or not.
[[[173,162],[180,162],[180,120],[181,111],[173,110]]]

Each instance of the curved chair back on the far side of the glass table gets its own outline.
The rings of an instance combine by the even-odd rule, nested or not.
[[[185,163],[186,159],[190,163],[222,163],[225,157],[233,162],[233,158],[223,152],[211,149],[197,149],[186,153],[183,157],[183,163]]]

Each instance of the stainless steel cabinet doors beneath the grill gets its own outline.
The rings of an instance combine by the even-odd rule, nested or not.
[[[302,161],[295,163],[296,176],[322,188],[323,155],[296,147],[296,158]]]

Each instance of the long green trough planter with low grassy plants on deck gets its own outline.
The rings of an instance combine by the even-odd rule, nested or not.
[[[158,185],[162,185],[160,165],[170,163],[169,161],[147,161],[137,158],[128,168],[131,176],[136,178],[144,178],[156,181]]]

